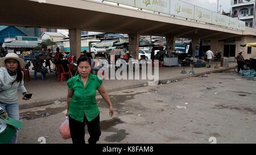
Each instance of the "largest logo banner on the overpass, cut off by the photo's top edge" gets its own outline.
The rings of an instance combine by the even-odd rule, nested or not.
[[[170,0],[135,0],[135,7],[170,14]]]

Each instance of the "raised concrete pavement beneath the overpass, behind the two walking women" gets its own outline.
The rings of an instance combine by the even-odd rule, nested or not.
[[[220,64],[220,63],[218,63]],[[188,77],[196,77],[202,74],[209,74],[214,72],[222,72],[224,70],[233,69],[236,66],[235,62],[229,63],[229,68],[220,67],[219,69],[214,69],[213,66],[215,62],[212,64],[212,68],[194,68],[195,75],[188,74],[191,70],[191,67],[186,67],[185,70],[187,74],[181,74],[181,67],[162,67],[159,68],[159,82],[166,83],[167,81],[175,81],[179,79],[184,79]],[[22,95],[19,95],[19,108],[31,108],[37,106],[43,106],[47,104],[54,103],[55,100],[59,100],[60,102],[67,99],[67,84],[65,82],[57,81],[55,77],[55,73],[47,73],[46,81],[40,80],[40,73],[38,73],[38,78],[32,79],[34,75],[33,70],[30,70],[31,81],[26,82],[24,80],[24,85],[27,88],[29,93],[33,93],[33,98],[30,100],[22,100]],[[104,80],[104,86],[108,93],[119,90],[133,89],[136,87],[147,86],[147,80]]]

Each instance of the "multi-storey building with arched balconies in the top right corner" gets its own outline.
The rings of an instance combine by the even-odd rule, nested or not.
[[[247,27],[255,28],[255,0],[231,0],[231,12],[233,18],[242,20]]]

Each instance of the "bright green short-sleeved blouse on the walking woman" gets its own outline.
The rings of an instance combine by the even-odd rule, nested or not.
[[[69,90],[73,91],[73,96],[69,103],[69,116],[80,122],[84,122],[84,114],[89,122],[96,118],[100,114],[96,91],[101,84],[101,79],[93,74],[89,74],[85,87],[80,75],[70,78],[67,85]]]

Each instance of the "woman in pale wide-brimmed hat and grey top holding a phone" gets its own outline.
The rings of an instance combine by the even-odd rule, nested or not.
[[[0,106],[7,112],[6,116],[19,120],[18,90],[23,96],[27,93],[21,70],[25,62],[15,53],[8,53],[0,58],[0,66],[6,68],[0,72]],[[27,100],[26,97],[22,99]],[[16,143],[17,138],[18,132],[10,143]]]

